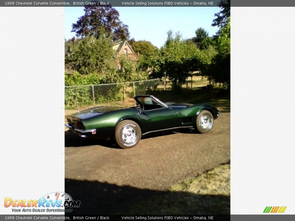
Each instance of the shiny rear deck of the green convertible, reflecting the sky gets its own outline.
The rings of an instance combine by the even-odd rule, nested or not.
[[[84,111],[78,111],[75,114],[71,114],[70,116],[79,118],[79,119],[87,119],[91,118],[100,114],[108,113],[111,111],[117,111],[125,109],[125,107],[116,107],[116,106],[100,106],[100,107],[93,107],[86,109]]]

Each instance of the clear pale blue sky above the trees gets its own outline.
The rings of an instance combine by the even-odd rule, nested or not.
[[[195,36],[199,27],[209,36],[218,28],[212,27],[214,14],[219,7],[115,7],[120,20],[129,26],[130,37],[136,41],[146,40],[160,48],[167,39],[167,31],[179,31],[183,39]],[[84,15],[84,7],[65,7],[65,38],[72,38],[72,24]]]

